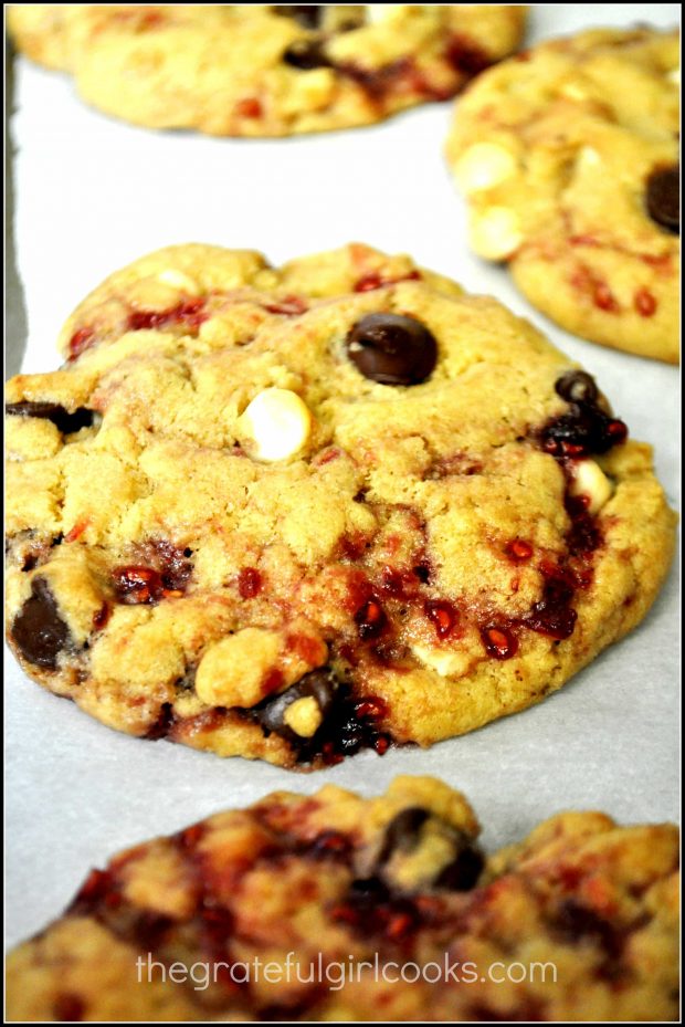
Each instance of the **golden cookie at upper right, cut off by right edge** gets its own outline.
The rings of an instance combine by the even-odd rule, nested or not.
[[[485,73],[447,157],[471,244],[584,338],[675,364],[679,35],[591,30]]]

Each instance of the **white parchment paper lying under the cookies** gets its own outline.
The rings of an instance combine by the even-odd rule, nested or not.
[[[529,39],[645,19],[668,25],[678,15],[671,3],[542,4],[531,10]],[[656,447],[677,505],[677,370],[567,335],[529,307],[504,270],[468,253],[442,158],[449,104],[303,139],[208,139],[88,111],[66,77],[23,59],[17,102],[24,370],[56,367],[54,339],[71,308],[157,247],[247,247],[280,262],[360,240],[409,252],[547,331],[597,376],[633,437]],[[43,692],[8,656],[8,942],[56,915],[88,868],[118,848],[274,788],[310,793],[330,780],[371,794],[398,773],[436,774],[471,798],[487,846],[562,807],[600,807],[623,821],[675,818],[677,599],[674,572],[644,623],[540,706],[430,751],[365,753],[313,775],[119,735]]]

